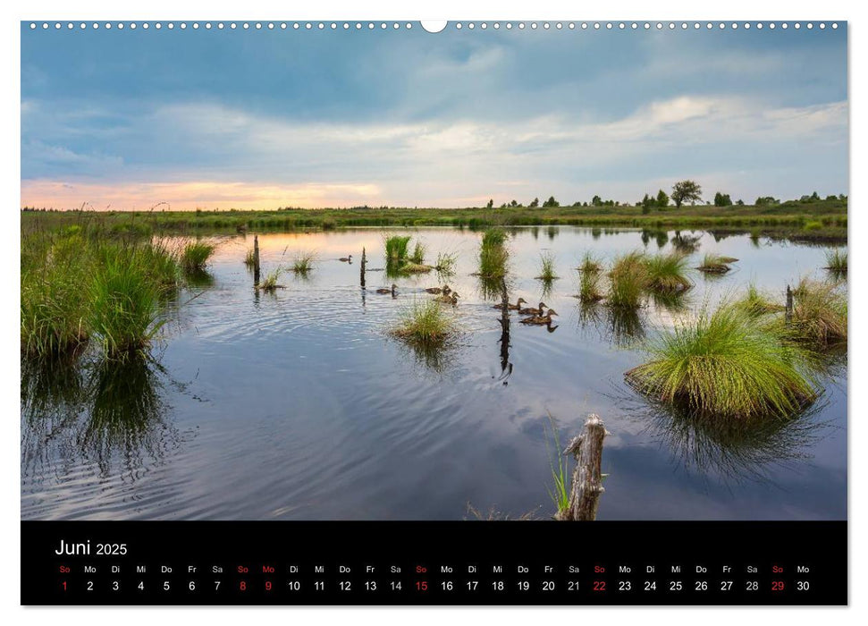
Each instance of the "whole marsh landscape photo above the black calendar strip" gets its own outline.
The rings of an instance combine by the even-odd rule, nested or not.
[[[847,520],[847,89],[846,21],[21,22],[21,521]]]

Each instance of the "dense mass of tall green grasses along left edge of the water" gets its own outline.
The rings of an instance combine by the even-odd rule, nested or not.
[[[167,303],[206,275],[204,241],[95,236],[78,225],[21,235],[21,353],[54,359],[100,346],[107,360],[144,356]]]

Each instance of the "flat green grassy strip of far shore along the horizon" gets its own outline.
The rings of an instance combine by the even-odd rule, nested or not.
[[[88,230],[112,234],[207,234],[332,231],[364,226],[455,226],[485,230],[509,226],[574,225],[591,228],[620,227],[667,230],[744,232],[794,241],[847,241],[847,199],[788,200],[777,204],[682,205],[644,207],[629,205],[573,207],[467,207],[467,208],[279,208],[266,211],[97,211],[21,209],[22,232],[55,230],[86,224]]]

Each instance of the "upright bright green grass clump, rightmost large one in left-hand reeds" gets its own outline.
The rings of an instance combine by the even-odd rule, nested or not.
[[[88,327],[109,359],[145,350],[163,326],[160,289],[136,250],[110,248],[88,282]]]

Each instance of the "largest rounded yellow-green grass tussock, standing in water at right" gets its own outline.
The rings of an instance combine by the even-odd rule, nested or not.
[[[654,402],[712,419],[788,417],[817,396],[802,354],[744,309],[700,311],[646,346],[626,379]]]

